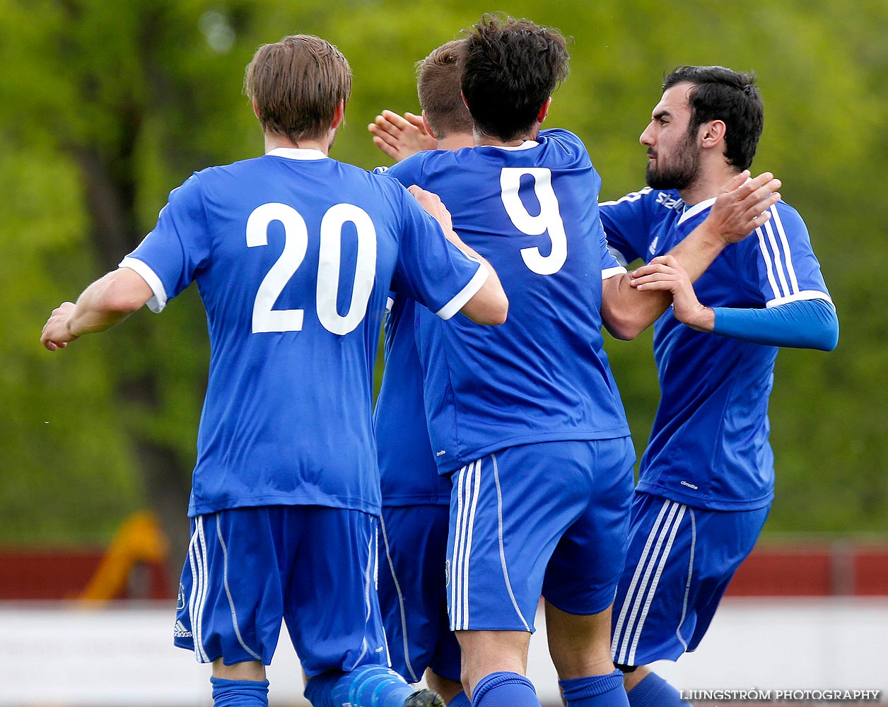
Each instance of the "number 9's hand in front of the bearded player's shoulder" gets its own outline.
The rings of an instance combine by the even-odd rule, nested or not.
[[[749,178],[749,170],[729,179],[719,190],[716,203],[707,220],[725,239],[725,243],[740,242],[763,226],[770,218],[769,209],[780,201],[781,180],[769,171]]]

